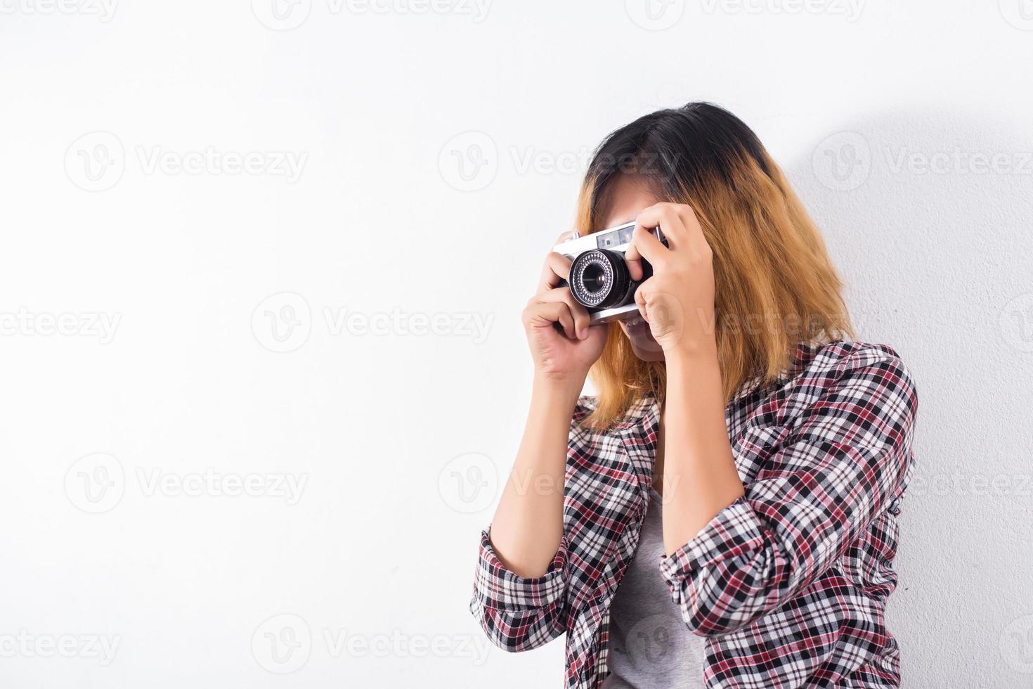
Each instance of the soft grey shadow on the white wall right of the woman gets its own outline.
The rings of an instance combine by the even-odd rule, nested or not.
[[[1033,686],[1033,143],[888,114],[816,132],[786,173],[858,339],[897,348],[918,386],[887,609],[905,686]]]

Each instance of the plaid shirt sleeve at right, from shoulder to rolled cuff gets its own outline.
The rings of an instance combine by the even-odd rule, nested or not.
[[[728,633],[791,600],[899,496],[917,406],[904,365],[870,346],[820,386],[745,496],[661,561],[698,635]]]

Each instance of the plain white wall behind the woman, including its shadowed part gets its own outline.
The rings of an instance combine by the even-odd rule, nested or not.
[[[916,376],[906,686],[1033,686],[1026,0],[65,1],[0,0],[0,685],[559,686],[466,613],[519,313],[591,147],[709,99]]]

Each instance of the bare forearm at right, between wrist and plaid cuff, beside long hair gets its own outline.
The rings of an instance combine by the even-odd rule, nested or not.
[[[728,442],[716,344],[666,361],[663,543],[670,555],[744,490]]]

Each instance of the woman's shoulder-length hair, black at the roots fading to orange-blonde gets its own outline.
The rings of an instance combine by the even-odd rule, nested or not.
[[[773,382],[796,344],[852,337],[841,282],[824,243],[756,134],[726,109],[693,102],[641,117],[596,150],[576,227],[604,229],[608,194],[635,176],[660,199],[695,211],[713,250],[714,328],[725,399]],[[689,314],[687,314],[689,316]],[[598,403],[588,422],[605,428],[636,399],[663,400],[663,362],[643,362],[616,322],[592,367]]]

